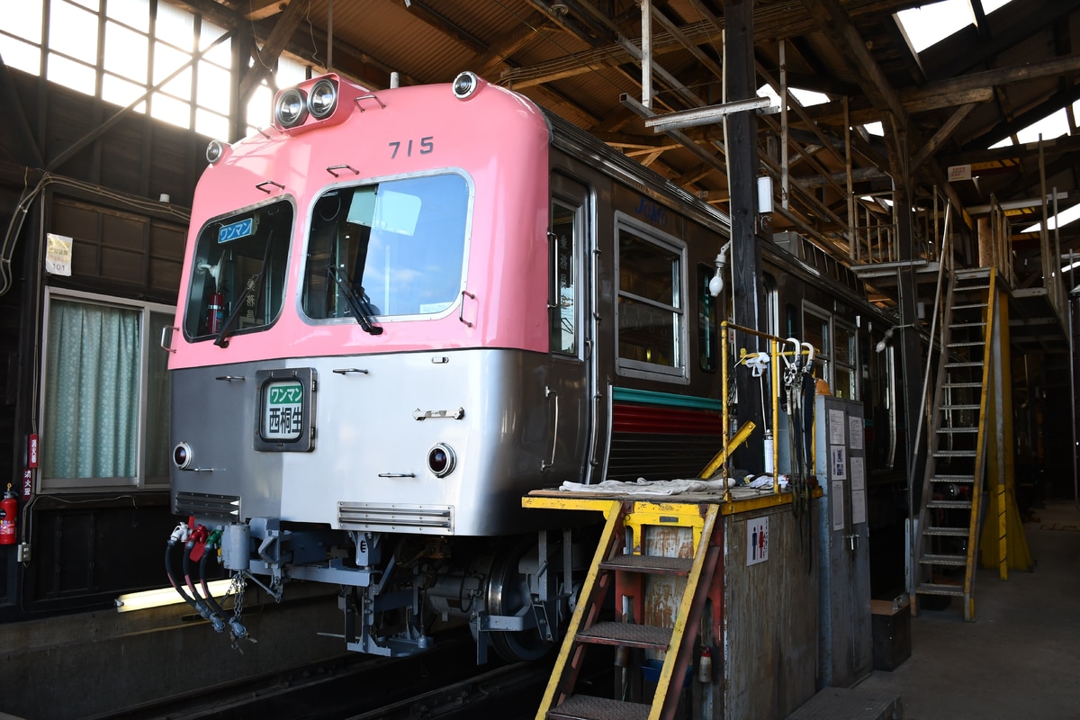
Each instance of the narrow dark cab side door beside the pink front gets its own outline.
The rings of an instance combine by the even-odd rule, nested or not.
[[[590,481],[595,452],[590,277],[593,247],[589,189],[552,173],[549,242],[550,375],[546,388],[552,479]]]

